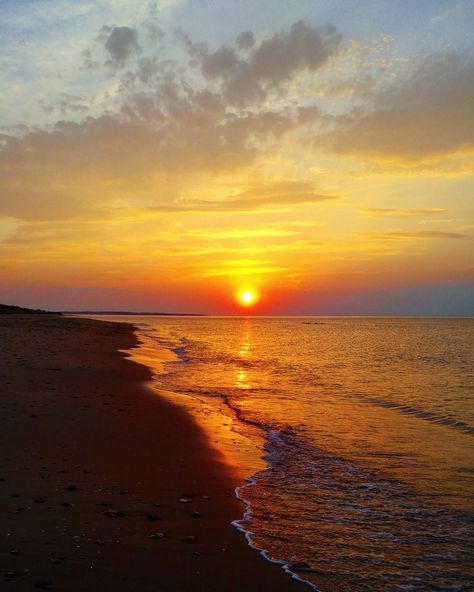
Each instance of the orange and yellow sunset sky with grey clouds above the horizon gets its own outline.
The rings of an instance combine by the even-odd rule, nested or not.
[[[473,30],[471,0],[1,0],[0,302],[474,314]]]

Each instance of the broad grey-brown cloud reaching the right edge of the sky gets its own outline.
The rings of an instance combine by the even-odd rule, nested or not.
[[[339,153],[422,160],[474,150],[474,55],[428,58],[381,92],[373,108],[333,123],[322,143]]]

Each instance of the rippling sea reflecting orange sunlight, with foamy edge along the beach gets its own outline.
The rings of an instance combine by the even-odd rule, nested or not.
[[[268,558],[322,592],[474,589],[474,319],[133,322],[171,352],[156,387],[235,435]]]

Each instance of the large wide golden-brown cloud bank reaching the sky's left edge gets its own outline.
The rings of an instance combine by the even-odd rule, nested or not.
[[[129,97],[119,113],[60,121],[51,130],[28,130],[21,137],[5,134],[0,137],[0,215],[95,218],[117,194],[135,205],[148,193],[149,205],[176,206],[179,192],[171,195],[170,187],[192,184],[195,175],[249,166],[261,142],[297,128],[307,117],[306,112],[226,113],[218,96],[183,93],[170,84],[153,97]],[[222,209],[328,199],[308,187],[295,190],[299,195],[269,193],[255,201],[242,195],[247,202]],[[206,205],[211,206],[194,204]]]

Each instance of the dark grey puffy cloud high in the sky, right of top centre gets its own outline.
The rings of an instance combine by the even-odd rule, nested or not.
[[[245,106],[281,90],[299,72],[318,70],[338,51],[342,36],[332,25],[316,28],[299,21],[289,31],[276,33],[258,44],[252,33],[242,33],[235,46],[214,52],[206,44],[192,43],[185,36],[183,39],[204,76],[220,84],[226,100]],[[242,56],[242,49],[250,51]]]

